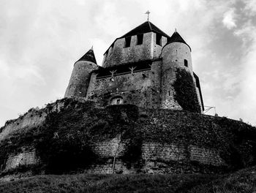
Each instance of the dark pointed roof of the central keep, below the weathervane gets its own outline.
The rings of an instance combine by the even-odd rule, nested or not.
[[[157,26],[155,26],[153,23],[151,23],[150,21],[146,21],[146,22],[142,23],[140,26],[136,27],[135,29],[132,29],[127,34],[124,34],[124,36],[119,37],[119,38],[135,36],[138,34],[145,34],[147,32],[151,32],[151,31],[154,31],[157,34],[161,34],[162,36],[169,37],[167,34],[165,34],[164,31],[157,28]]]

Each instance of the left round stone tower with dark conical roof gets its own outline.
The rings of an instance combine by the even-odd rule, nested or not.
[[[64,97],[86,97],[91,71],[95,69],[98,69],[98,66],[94,50],[91,48],[82,58],[75,62]]]

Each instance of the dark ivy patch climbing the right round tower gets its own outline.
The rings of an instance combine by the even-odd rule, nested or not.
[[[201,112],[192,75],[186,69],[176,69],[176,81],[173,88],[175,90],[174,99],[184,110]]]

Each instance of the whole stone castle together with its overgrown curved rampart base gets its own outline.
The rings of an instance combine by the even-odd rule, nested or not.
[[[89,50],[64,99],[0,128],[0,182],[35,174],[228,173],[256,163],[256,129],[202,114],[191,49],[146,21],[102,67]],[[18,173],[16,175],[16,173]]]

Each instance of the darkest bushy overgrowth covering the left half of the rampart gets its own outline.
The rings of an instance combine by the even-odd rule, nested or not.
[[[6,162],[8,154],[18,154],[24,151],[21,147],[29,147],[37,150],[42,161],[40,167],[46,173],[67,173],[100,162],[101,158],[91,149],[94,143],[118,134],[123,134],[125,139],[135,136],[128,126],[138,118],[138,107],[134,105],[114,105],[102,110],[95,109],[93,102],[75,99],[63,99],[63,102],[59,112],[51,112],[53,105],[46,107],[51,113],[44,125],[22,134],[12,133],[2,141],[0,164]]]

